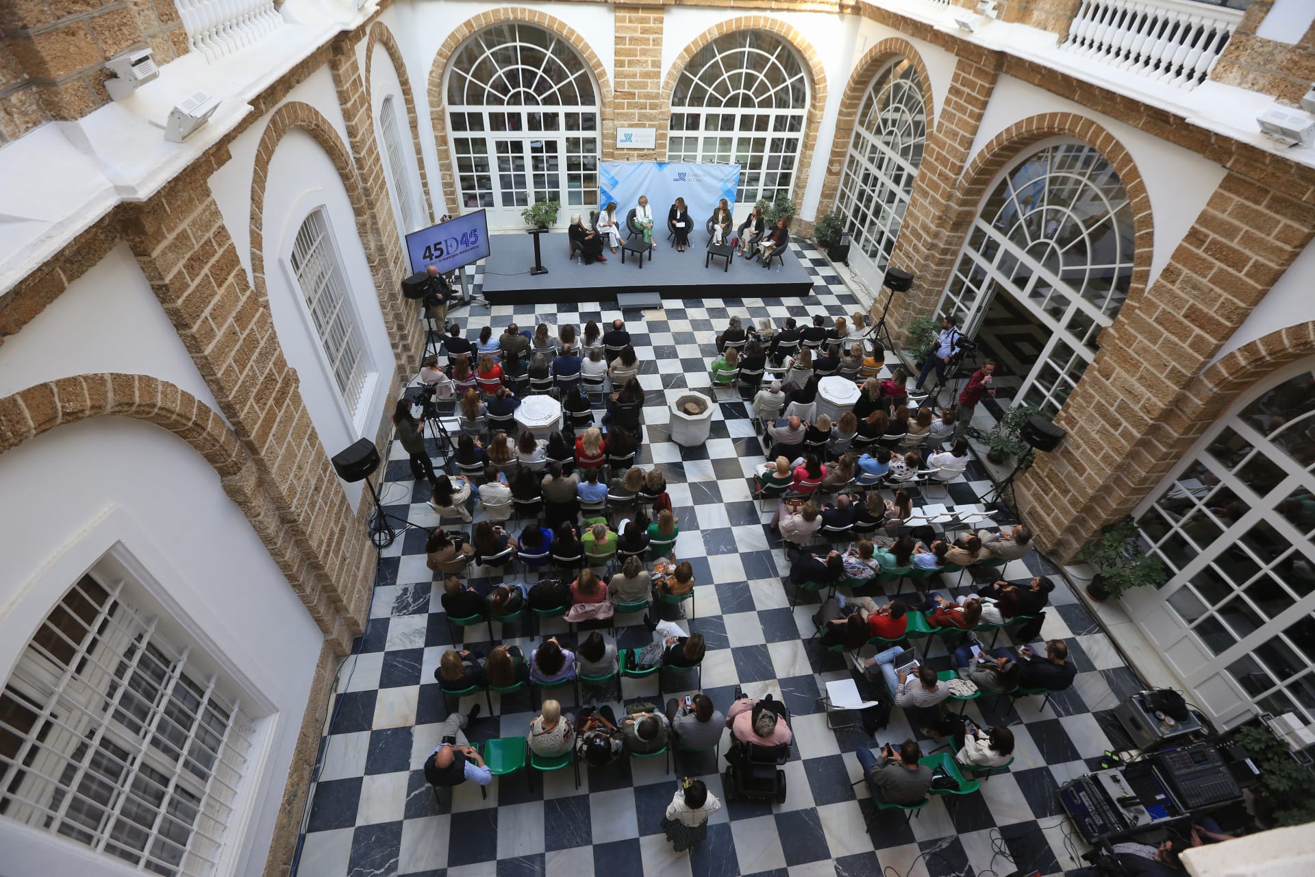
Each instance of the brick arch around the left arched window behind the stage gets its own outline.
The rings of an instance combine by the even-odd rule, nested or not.
[[[608,78],[608,71],[602,66],[602,60],[589,47],[585,38],[567,22],[538,9],[502,7],[496,11],[481,12],[452,29],[452,33],[447,36],[443,45],[438,47],[434,63],[429,68],[429,112],[430,122],[434,126],[434,145],[438,151],[439,184],[443,188],[443,197],[447,204],[446,212],[452,216],[459,216],[462,206],[456,199],[456,174],[452,168],[451,138],[447,133],[447,113],[444,112],[447,99],[443,95],[443,74],[447,72],[447,63],[451,60],[452,54],[471,36],[492,25],[508,22],[537,25],[550,33],[555,33],[565,39],[584,60],[585,67],[593,71],[594,85],[598,88],[598,137],[601,138],[602,160],[609,160],[613,155],[617,139],[617,118],[611,100],[611,80]]]

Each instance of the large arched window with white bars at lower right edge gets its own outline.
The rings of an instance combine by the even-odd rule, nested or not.
[[[1239,400],[1135,514],[1172,577],[1132,617],[1185,688],[1226,722],[1239,696],[1315,722],[1315,362]]]

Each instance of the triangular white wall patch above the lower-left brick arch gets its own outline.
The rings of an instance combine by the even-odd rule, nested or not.
[[[0,344],[0,397],[97,372],[150,375],[220,412],[126,243]]]

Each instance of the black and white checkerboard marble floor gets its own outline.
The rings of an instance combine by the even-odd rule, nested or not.
[[[788,316],[848,316],[859,309],[818,251],[805,246],[798,255],[817,277],[809,298],[744,297],[709,306],[671,301],[660,310],[643,312],[642,320],[636,312],[625,314],[648,394],[639,464],[664,469],[680,518],[676,554],[694,565],[698,582],[697,611],[679,623],[701,631],[707,640],[702,684],[718,709],[727,709],[736,684],[752,696],[771,692],[784,698],[794,730],[785,765],[786,802],[725,805],[710,820],[707,840],[692,853],[672,852],[659,826],[677,784],[677,773],[665,773],[660,759],[636,761],[630,769],[625,760],[608,769],[581,768],[580,789],[569,770],[547,774],[533,790],[519,773],[496,780],[487,799],[477,786],[466,784],[455,789],[450,803],[437,803],[421,765],[438,744],[446,717],[433,672],[452,639],[439,588],[425,565],[426,533],[413,529],[384,551],[359,655],[347,660],[338,680],[297,870],[301,877],[813,877],[874,876],[888,865],[906,877],[924,877],[988,869],[1051,874],[1081,864],[1073,861],[1065,843],[1068,826],[1061,824],[1056,789],[1094,767],[1105,749],[1127,746],[1112,707],[1141,686],[1059,577],[1040,639],[1068,642],[1078,669],[1073,688],[1052,697],[1044,711],[1038,710],[1040,698],[1010,705],[1007,698],[984,697],[968,706],[968,715],[978,723],[1013,726],[1014,765],[984,782],[980,793],[956,798],[949,809],[945,798],[932,798],[909,824],[903,814],[882,813],[871,832],[864,831],[872,802],[865,784],[851,784],[861,776],[855,751],[874,746],[874,740],[857,728],[827,730],[818,696],[827,681],[849,671],[842,656],[809,642],[817,598],[807,594],[793,611],[789,609],[781,539],[765,525],[771,504],[760,513],[751,496],[751,473],[763,463],[761,443],[750,425],[746,401],[735,391],[711,391],[707,375],[713,339],[732,313],[771,317],[778,323]],[[512,317],[522,325],[540,320],[555,325],[617,316],[622,314],[589,305],[452,312],[473,327],[489,320],[501,327]],[[665,402],[686,388],[713,394],[718,402],[705,447],[681,448],[668,440]],[[989,481],[973,464],[963,480],[948,485],[948,494],[956,502],[970,502],[985,489]],[[438,521],[426,504],[427,494],[426,484],[412,483],[405,454],[394,443],[383,489],[387,510],[431,527]],[[945,501],[939,486],[935,494],[932,501]],[[993,517],[998,523],[1009,522],[999,514]],[[485,572],[471,573],[476,585],[498,581],[481,580]],[[1044,557],[1032,555],[1009,564],[1005,577],[1057,572]],[[949,585],[953,582],[944,582]],[[621,626],[622,621],[631,626]],[[564,631],[560,622],[544,626],[546,634]],[[464,646],[476,652],[490,647],[487,626],[459,632],[467,636]],[[526,652],[537,642],[525,639],[522,630],[500,630],[498,625],[493,635]],[[621,617],[617,635],[622,647],[650,639],[636,615]],[[1002,635],[1001,644],[1007,642]],[[932,647],[930,663],[936,669],[949,667],[943,646]],[[865,685],[860,680],[860,689]],[[626,680],[625,694],[627,702],[652,698],[656,682]],[[460,709],[467,711],[483,701],[466,698]],[[563,703],[573,713],[577,705],[565,701],[573,702],[573,694]],[[467,728],[472,743],[523,735],[534,715],[523,693],[501,702],[493,696],[493,707],[496,715],[485,706]],[[907,736],[917,736],[917,728],[910,728],[903,711],[896,709],[877,740]],[[924,752],[936,746],[931,740],[922,744]],[[681,772],[701,777],[725,803],[723,767],[705,755],[684,763]]]

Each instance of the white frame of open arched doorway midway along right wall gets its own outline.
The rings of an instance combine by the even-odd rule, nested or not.
[[[1056,170],[1053,166],[1043,172],[1026,171],[1024,166],[1048,150],[1059,150],[1051,153],[1051,158],[1055,160],[1090,160],[1093,167],[1101,168],[1101,172],[1074,174],[1068,168]],[[1023,172],[1030,175],[1019,180],[1018,178]],[[1089,202],[1103,205],[1109,214],[1105,220],[1094,220],[1098,216],[1095,213],[1089,217],[1077,217],[1070,209],[1072,201],[1066,205],[1051,201],[1041,209],[1031,208],[1031,204],[1036,202],[1032,199],[1034,195],[1059,192],[1063,196],[1074,191],[1098,191],[1098,185],[1090,183],[1093,179],[1105,181],[1112,179],[1118,185],[1116,195],[1120,197],[1107,197],[1102,193],[1101,197]],[[994,199],[1001,192],[1010,195],[999,205],[993,205]],[[1022,200],[1019,193],[1023,193]],[[1028,199],[1032,201],[1028,202]],[[993,206],[999,206],[994,212],[994,217],[984,218],[984,212]],[[1130,224],[1126,247],[1118,234],[1122,224],[1120,216],[1126,216]],[[1084,277],[1098,272],[1112,273],[1123,281],[1124,287],[1132,276],[1135,230],[1131,226],[1132,216],[1127,191],[1119,183],[1112,166],[1094,147],[1069,138],[1056,138],[1039,143],[1011,162],[995,178],[978,205],[977,217],[969,227],[955,270],[945,284],[945,292],[938,304],[938,310],[957,314],[964,334],[974,337],[994,296],[998,292],[1009,293],[1014,302],[1040,322],[1048,333],[1045,347],[1024,376],[1022,387],[1014,397],[1014,405],[1031,404],[1053,414],[1064,406],[1073,388],[1082,379],[1086,367],[1095,358],[1098,350],[1095,341],[1118,316],[1126,300],[1126,289],[1115,292],[1118,283],[1111,283],[1111,292],[1102,304],[1084,297],[1081,289],[1074,287],[1068,277],[1052,271],[1043,260],[1009,238],[1007,230],[1016,227],[1020,217],[1023,226],[1030,227],[1030,224],[1039,226],[1040,230],[1032,235],[1030,245],[1036,247],[1043,247],[1047,241],[1052,241],[1051,235],[1055,233],[1048,231],[1052,221],[1059,225],[1057,231],[1073,229],[1069,220],[1089,218],[1093,220],[1094,227],[1101,227],[1105,222],[1112,224],[1115,226],[1112,239],[1116,242],[1112,262],[1095,264],[1089,258],[1081,266],[1064,266],[1064,271],[1082,270]],[[1003,230],[997,227],[1001,222],[1007,224],[1007,227]],[[1066,252],[1080,239],[1084,242],[1089,239],[1085,231],[1056,249],[1063,249]],[[1086,250],[1090,254],[1090,247]],[[1016,280],[1019,272],[1022,272],[1020,283]]]

